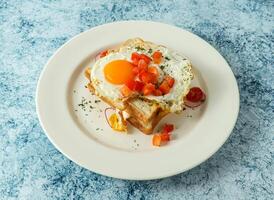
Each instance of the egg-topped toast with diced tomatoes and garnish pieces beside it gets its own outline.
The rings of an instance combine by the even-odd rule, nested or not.
[[[195,107],[205,100],[200,88],[190,89],[194,75],[187,58],[140,38],[98,54],[85,76],[89,90],[117,110],[107,119],[118,131],[127,130],[127,121],[151,134],[164,116],[180,113],[185,102]],[[157,134],[155,144],[168,141],[171,131]]]

